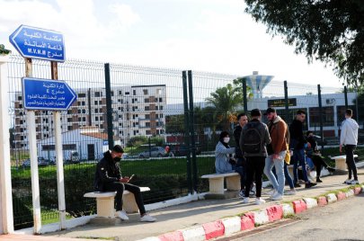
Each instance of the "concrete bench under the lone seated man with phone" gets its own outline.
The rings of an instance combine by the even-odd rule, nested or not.
[[[147,191],[150,191],[150,188],[140,187],[140,192]],[[87,192],[84,194],[84,197],[96,199],[97,217],[113,219],[115,217],[115,195],[116,192]],[[122,210],[128,213],[138,212],[138,205],[134,194],[126,190],[122,193]]]

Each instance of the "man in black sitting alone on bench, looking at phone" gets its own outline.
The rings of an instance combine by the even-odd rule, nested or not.
[[[116,215],[123,220],[128,220],[126,211],[122,210],[122,192],[127,190],[134,194],[135,200],[138,205],[140,213],[140,221],[142,222],[154,222],[156,219],[146,214],[144,207],[143,197],[140,192],[140,188],[136,185],[129,183],[129,177],[121,176],[120,172],[120,160],[124,150],[119,145],[116,145],[111,150],[108,150],[103,154],[102,159],[96,165],[96,173],[94,179],[94,185],[97,191],[100,192],[115,192],[116,202]]]

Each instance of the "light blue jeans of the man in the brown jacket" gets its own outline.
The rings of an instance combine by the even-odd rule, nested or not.
[[[277,190],[277,192],[279,192],[280,195],[283,195],[284,183],[285,183],[284,156],[286,156],[286,150],[280,152],[280,158],[278,158],[278,159],[273,159],[272,155],[267,156],[265,158],[265,165],[264,165],[264,174],[268,177],[271,184],[273,185],[273,188],[275,190]],[[273,165],[274,165],[274,168],[276,169],[278,182],[277,182],[277,179],[274,176],[273,172],[271,171],[271,169],[273,168]]]

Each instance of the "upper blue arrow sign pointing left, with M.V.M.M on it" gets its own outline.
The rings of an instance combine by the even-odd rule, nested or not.
[[[65,61],[65,41],[58,31],[21,25],[9,36],[9,40],[23,58]]]

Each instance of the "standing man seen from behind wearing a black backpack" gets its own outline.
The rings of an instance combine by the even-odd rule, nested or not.
[[[271,143],[270,133],[266,124],[262,123],[262,112],[259,109],[251,111],[252,121],[244,125],[240,135],[240,149],[246,158],[246,183],[244,190],[244,203],[249,202],[250,186],[255,177],[256,199],[255,204],[260,205],[265,201],[262,196],[262,173],[265,157],[267,157],[266,146]]]

